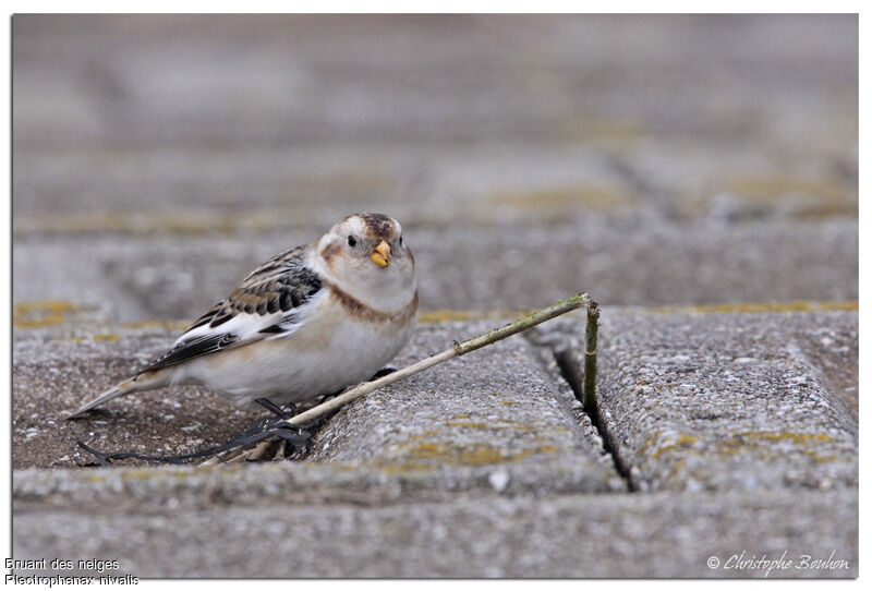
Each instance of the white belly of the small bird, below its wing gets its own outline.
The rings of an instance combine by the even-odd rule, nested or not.
[[[383,369],[409,342],[415,321],[391,327],[341,309],[322,311],[288,337],[193,360],[173,383],[202,384],[241,407],[256,398],[281,405],[332,394]]]

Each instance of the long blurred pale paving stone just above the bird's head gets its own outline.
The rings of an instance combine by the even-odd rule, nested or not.
[[[646,198],[608,154],[571,144],[49,154],[17,159],[16,236],[293,229],[370,209],[405,224],[521,216],[529,224],[570,208],[626,215]]]

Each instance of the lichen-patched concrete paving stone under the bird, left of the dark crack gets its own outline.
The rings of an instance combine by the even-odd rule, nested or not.
[[[469,338],[495,324],[422,326],[396,363],[423,359],[450,347],[453,338]],[[14,467],[94,461],[76,447],[77,439],[99,450],[193,451],[228,441],[264,414],[239,411],[204,388],[172,387],[118,399],[95,417],[62,419],[64,411],[157,357],[172,335],[166,327],[136,325],[17,331]],[[493,349],[341,410],[316,436],[310,459],[383,474],[427,472],[431,481],[445,482],[437,487],[448,489],[625,490],[610,457],[585,437],[569,407],[556,398],[530,346],[516,338]]]

